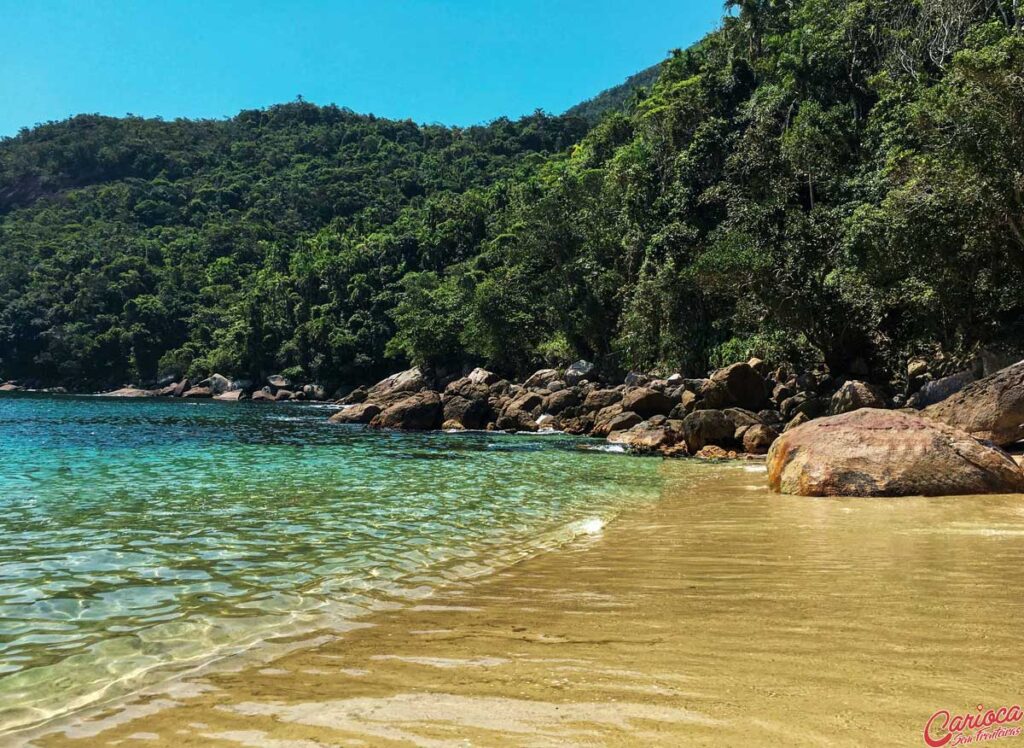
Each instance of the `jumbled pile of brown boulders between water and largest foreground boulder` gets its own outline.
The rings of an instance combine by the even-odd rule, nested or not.
[[[437,386],[411,369],[355,389],[332,420],[417,430],[558,430],[640,453],[735,456],[765,454],[783,430],[820,415],[885,407],[868,384],[834,387],[827,375],[769,372],[757,359],[706,379],[633,373],[608,386],[592,381],[593,373],[593,365],[581,361],[564,371],[542,369],[516,384],[476,369]]]

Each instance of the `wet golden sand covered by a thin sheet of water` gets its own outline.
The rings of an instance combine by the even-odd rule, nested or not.
[[[568,547],[33,744],[923,745],[940,708],[1020,703],[1024,497],[761,470],[666,461],[658,503]]]

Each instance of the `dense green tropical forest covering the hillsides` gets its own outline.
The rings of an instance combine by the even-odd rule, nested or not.
[[[0,141],[0,378],[758,355],[884,379],[1024,344],[1020,0],[734,0],[598,100],[24,130]]]

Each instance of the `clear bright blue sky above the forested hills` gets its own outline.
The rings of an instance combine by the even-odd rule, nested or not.
[[[301,94],[473,124],[559,113],[715,28],[721,0],[0,0],[0,136]]]

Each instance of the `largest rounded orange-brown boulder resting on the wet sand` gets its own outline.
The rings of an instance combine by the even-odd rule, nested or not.
[[[772,490],[801,496],[1024,492],[1001,450],[901,411],[862,408],[783,433],[768,452]]]

